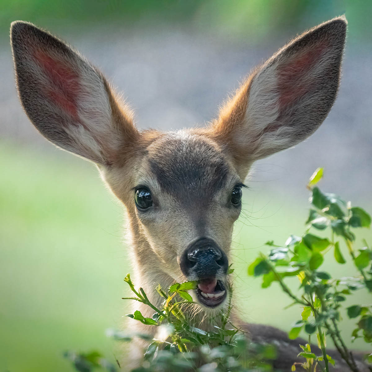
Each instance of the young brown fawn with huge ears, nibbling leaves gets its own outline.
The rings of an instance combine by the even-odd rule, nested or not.
[[[32,124],[58,147],[96,163],[124,203],[135,283],[156,303],[157,283],[198,280],[195,322],[208,329],[208,316],[227,303],[244,179],[254,161],[298,144],[324,121],[339,87],[346,28],[342,16],[296,37],[250,74],[211,124],[168,133],[139,131],[102,73],[48,32],[16,21],[11,43]],[[289,370],[298,340],[265,325],[244,327],[254,341],[275,344],[274,367]]]

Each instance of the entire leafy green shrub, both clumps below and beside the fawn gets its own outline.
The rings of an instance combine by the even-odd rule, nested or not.
[[[337,351],[350,369],[357,372],[352,352],[346,347],[341,337],[339,323],[342,315],[356,320],[352,340],[363,338],[366,343],[372,343],[372,304],[355,304],[344,308],[347,296],[352,297],[355,291],[366,289],[372,292],[372,250],[365,240],[363,246],[356,250],[354,228],[370,227],[371,217],[359,207],[352,207],[350,202],[344,202],[339,196],[323,193],[316,186],[323,176],[323,169],[318,169],[312,175],[308,189],[311,191],[309,217],[306,230],[301,237],[291,235],[284,246],[277,246],[273,241],[266,244],[272,247],[268,255],[260,254],[248,267],[248,274],[262,277],[262,288],[278,282],[282,291],[292,299],[292,305],[299,305],[301,318],[296,321],[289,331],[289,338],[296,339],[302,329],[308,334],[309,341],[299,345],[299,356],[305,362],[294,363],[292,371],[301,367],[305,371],[327,371],[329,364],[335,361],[327,354],[326,337],[330,337]],[[312,234],[312,230],[330,231],[330,238]],[[311,231],[311,232],[310,232]],[[345,248],[354,262],[359,275],[353,277],[332,278],[320,266],[325,259],[333,257],[339,264],[346,263]],[[333,259],[333,258],[332,258]],[[229,268],[229,273],[233,270]],[[286,278],[286,279],[285,279]],[[299,293],[289,289],[284,280],[299,280]],[[135,289],[129,274],[124,279],[128,283],[133,297],[151,307],[154,315],[144,317],[140,311],[128,314],[141,323],[158,327],[154,338],[147,334],[137,334],[150,342],[142,366],[133,372],[167,372],[188,371],[271,371],[270,360],[275,359],[275,349],[251,343],[244,335],[244,331],[236,327],[229,320],[231,312],[231,295],[228,299],[226,311],[215,315],[220,327],[215,326],[212,332],[206,332],[192,325],[191,320],[183,311],[184,305],[192,303],[192,297],[187,292],[196,288],[196,282],[175,283],[167,290],[157,286],[156,290],[163,298],[161,308],[152,304],[142,288]],[[218,322],[217,322],[218,320]],[[211,320],[213,323],[213,319]],[[119,341],[131,341],[132,336],[119,331],[110,331],[110,336]],[[316,337],[321,355],[311,349],[311,337]],[[89,354],[67,353],[74,366],[81,372],[89,372],[95,368],[115,371],[114,365],[102,359],[99,353]],[[196,366],[196,359],[201,366]],[[366,355],[372,361],[372,354]]]

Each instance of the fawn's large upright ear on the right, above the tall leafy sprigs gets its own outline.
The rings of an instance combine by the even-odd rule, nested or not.
[[[280,49],[243,83],[212,124],[238,167],[305,140],[330,111],[347,21],[337,17]]]

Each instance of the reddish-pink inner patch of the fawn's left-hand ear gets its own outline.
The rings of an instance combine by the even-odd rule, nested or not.
[[[64,112],[77,119],[77,97],[81,91],[77,71],[68,61],[55,59],[44,50],[38,49],[33,55],[48,79],[48,83],[40,80],[44,94]]]

